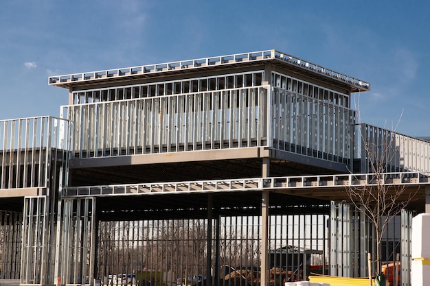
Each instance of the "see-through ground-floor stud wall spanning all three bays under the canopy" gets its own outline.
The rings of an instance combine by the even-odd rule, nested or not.
[[[306,280],[310,271],[328,270],[327,218],[269,217],[271,285]],[[122,274],[134,274],[140,285],[170,285],[177,278],[207,276],[210,256],[211,273],[214,279],[219,275],[220,285],[257,285],[261,217],[219,217],[211,225],[218,243],[215,237],[207,241],[207,219],[99,222],[95,275],[105,282],[111,277],[113,284],[121,283]]]

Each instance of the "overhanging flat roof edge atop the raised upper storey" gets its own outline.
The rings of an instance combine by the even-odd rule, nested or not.
[[[351,92],[370,91],[370,84],[363,80],[353,78],[349,75],[321,67],[313,62],[291,56],[275,49],[266,51],[254,51],[250,53],[236,53],[227,56],[216,56],[210,58],[199,58],[194,60],[181,60],[176,62],[164,62],[161,64],[148,64],[137,67],[126,67],[121,69],[109,69],[104,71],[89,71],[84,73],[72,73],[68,75],[55,75],[48,79],[48,84],[70,88],[82,84],[98,84],[106,82],[119,82],[122,80],[147,78],[161,75],[161,73],[183,73],[195,69],[209,69],[212,67],[229,68],[243,64],[258,64],[263,61],[275,61],[277,64],[287,65],[299,73],[329,80],[334,84],[348,86]]]

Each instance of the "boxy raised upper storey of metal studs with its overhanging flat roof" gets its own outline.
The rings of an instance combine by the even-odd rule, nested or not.
[[[359,169],[369,167],[359,149],[373,137],[359,138],[350,94],[370,84],[279,51],[60,75],[49,84],[69,88],[60,117],[78,127],[74,158],[264,147],[350,169],[361,158]],[[387,171],[415,169],[402,165],[405,156],[393,160]],[[421,161],[417,169],[427,171]]]

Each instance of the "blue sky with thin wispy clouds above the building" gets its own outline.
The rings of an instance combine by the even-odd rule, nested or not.
[[[370,82],[361,121],[430,136],[429,1],[1,4],[0,119],[58,116],[49,75],[277,49]]]

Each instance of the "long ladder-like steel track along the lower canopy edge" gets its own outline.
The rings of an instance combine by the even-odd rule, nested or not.
[[[430,174],[421,172],[384,173],[381,179],[376,174],[337,174],[322,176],[286,176],[273,178],[243,178],[229,180],[207,180],[190,182],[154,182],[142,184],[118,184],[106,186],[66,187],[63,197],[85,197],[104,195],[147,195],[155,193],[207,193],[232,191],[262,191],[282,189],[315,189],[371,187],[385,184],[424,185],[430,184]]]

